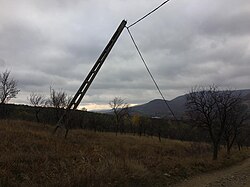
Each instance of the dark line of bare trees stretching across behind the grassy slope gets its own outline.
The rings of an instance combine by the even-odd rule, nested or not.
[[[0,116],[7,117],[11,106],[5,105],[20,92],[17,81],[10,77],[10,71],[0,74]],[[23,107],[24,119],[33,119],[38,123],[56,124],[71,97],[66,92],[50,87],[49,97],[31,93],[28,97],[32,110]],[[219,89],[216,85],[196,86],[186,95],[186,113],[180,121],[168,118],[149,118],[130,112],[129,104],[120,97],[109,102],[112,115],[82,111],[70,113],[67,120],[71,128],[83,128],[94,131],[131,133],[139,136],[157,136],[188,141],[211,142],[213,159],[217,159],[220,146],[226,147],[228,155],[237,144],[250,144],[249,108],[242,103],[241,93],[230,89]],[[25,112],[26,111],[26,112]],[[24,117],[26,116],[26,117]]]

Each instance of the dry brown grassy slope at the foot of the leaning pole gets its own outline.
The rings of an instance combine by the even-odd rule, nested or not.
[[[206,144],[0,121],[0,186],[167,186],[242,160],[211,160]]]

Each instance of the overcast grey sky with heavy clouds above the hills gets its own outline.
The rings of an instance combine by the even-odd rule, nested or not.
[[[162,0],[0,0],[0,72],[11,71],[28,103],[49,88],[74,95],[123,19]],[[250,1],[172,0],[131,28],[166,99],[195,85],[250,88]],[[82,101],[160,98],[125,29]]]

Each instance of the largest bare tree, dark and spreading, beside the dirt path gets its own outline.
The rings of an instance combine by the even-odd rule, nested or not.
[[[232,124],[231,117],[237,115],[240,118],[240,113],[236,112],[239,105],[239,94],[231,90],[219,90],[215,85],[195,87],[187,95],[188,114],[196,125],[209,132],[214,160],[217,159],[221,140]],[[230,138],[228,145],[234,140],[235,138]]]

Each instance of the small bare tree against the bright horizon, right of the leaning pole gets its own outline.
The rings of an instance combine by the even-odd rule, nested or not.
[[[125,103],[125,100],[120,97],[115,97],[112,101],[109,102],[109,106],[114,112],[115,123],[116,123],[116,135],[123,124],[123,118],[128,115],[129,105]],[[124,129],[120,129],[123,132]]]

